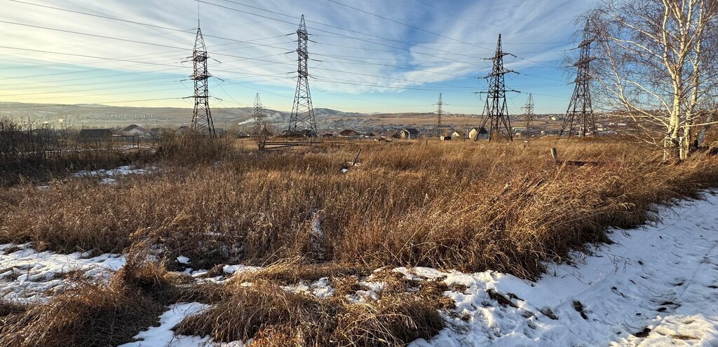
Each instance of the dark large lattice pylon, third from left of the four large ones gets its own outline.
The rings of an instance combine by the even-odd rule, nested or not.
[[[481,128],[484,128],[486,123],[489,123],[488,130],[489,141],[498,139],[500,136],[501,128],[506,130],[508,138],[513,141],[513,135],[511,134],[511,120],[508,118],[508,107],[506,106],[506,92],[517,92],[516,90],[506,90],[504,82],[504,75],[510,72],[516,72],[508,70],[503,67],[503,57],[513,54],[503,52],[501,49],[501,34],[498,35],[498,43],[496,44],[496,52],[493,57],[488,59],[493,60],[493,68],[491,73],[484,77],[488,80],[488,91],[486,93],[486,103],[484,105],[484,119],[481,122]],[[478,140],[478,136],[476,139]]]

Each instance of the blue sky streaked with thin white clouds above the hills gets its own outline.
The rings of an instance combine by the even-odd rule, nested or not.
[[[502,35],[510,114],[564,113],[589,0],[0,0],[1,102],[192,108],[197,20],[210,107],[292,110],[297,27],[314,108],[481,114]]]

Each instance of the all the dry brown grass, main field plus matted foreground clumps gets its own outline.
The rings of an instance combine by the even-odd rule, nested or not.
[[[610,242],[609,227],[656,219],[652,204],[718,186],[715,156],[662,162],[661,151],[619,138],[266,152],[175,138],[151,161],[157,170],[116,184],[87,177],[0,189],[0,243],[128,258],[108,282],[80,277],[47,303],[0,304],[0,346],[128,342],[164,305],[187,300],[212,307],[185,318],[184,335],[254,338],[253,346],[401,345],[433,336],[443,326],[437,310],[449,304],[440,283],[373,270],[491,269],[533,279],[546,262]],[[197,282],[176,272],[178,256],[194,269],[264,267]],[[353,293],[371,274],[389,285],[368,303],[281,287],[328,277],[337,293]]]

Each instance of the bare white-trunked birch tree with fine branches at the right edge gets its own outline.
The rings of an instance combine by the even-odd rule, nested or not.
[[[605,110],[629,117],[664,157],[687,156],[716,90],[716,0],[605,0],[587,13]],[[660,134],[656,136],[656,134]]]

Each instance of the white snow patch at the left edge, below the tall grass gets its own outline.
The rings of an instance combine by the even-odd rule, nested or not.
[[[59,255],[37,252],[31,244],[0,244],[0,298],[24,302],[43,300],[65,285],[70,272],[99,278],[125,264],[121,255],[90,257],[87,252]]]

